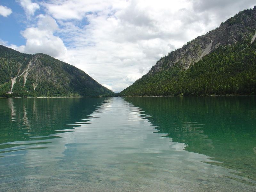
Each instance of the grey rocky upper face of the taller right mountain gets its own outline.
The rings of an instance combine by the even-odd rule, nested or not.
[[[234,44],[248,37],[256,37],[256,6],[253,9],[239,12],[234,17],[223,22],[219,28],[198,36],[188,42],[185,46],[172,51],[167,56],[161,58],[148,74],[167,70],[175,63],[180,63],[181,67],[188,69],[205,55],[213,52],[219,46]]]

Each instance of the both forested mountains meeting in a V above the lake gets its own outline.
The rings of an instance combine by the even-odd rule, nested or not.
[[[256,6],[159,59],[114,93],[49,55],[0,45],[1,97],[197,96],[256,94]]]

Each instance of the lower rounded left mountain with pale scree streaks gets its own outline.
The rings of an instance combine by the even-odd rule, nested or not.
[[[84,71],[49,55],[20,53],[0,45],[1,97],[114,94]]]

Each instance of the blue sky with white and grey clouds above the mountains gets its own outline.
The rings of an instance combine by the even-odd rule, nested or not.
[[[45,53],[114,92],[255,0],[0,0],[0,44]]]

